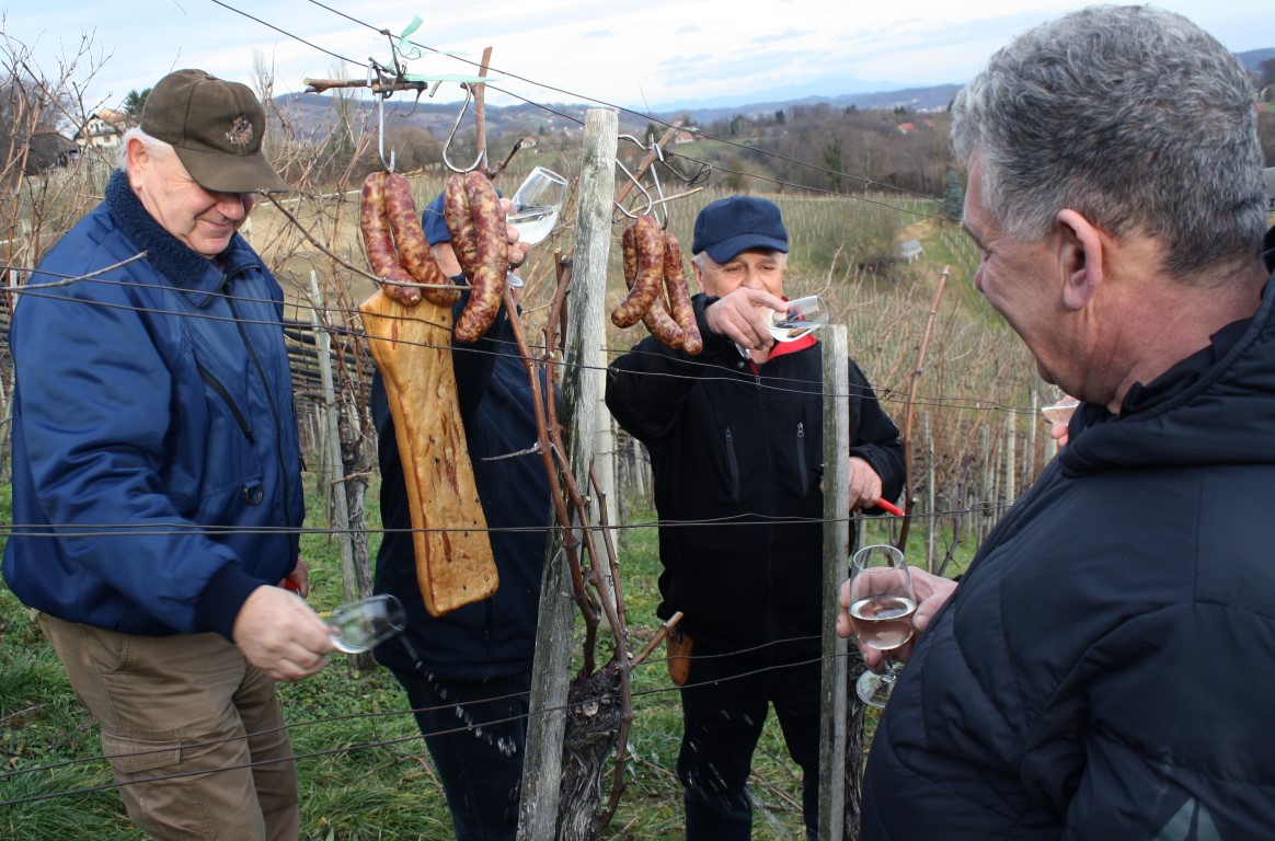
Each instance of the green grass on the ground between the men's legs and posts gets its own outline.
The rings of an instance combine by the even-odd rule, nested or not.
[[[370,497],[374,498],[374,497]],[[0,516],[11,522],[8,488]],[[375,505],[370,505],[375,510]],[[307,525],[321,526],[311,500]],[[370,511],[375,526],[375,511]],[[634,521],[653,522],[639,514]],[[340,554],[324,535],[302,538],[314,570],[319,609],[340,600]],[[631,646],[655,633],[659,561],[654,526],[632,528],[620,550]],[[372,545],[375,553],[375,539]],[[634,712],[626,762],[627,789],[608,838],[644,841],[682,835],[681,787],[676,779],[681,707],[662,651],[632,674]],[[450,838],[441,787],[419,739],[405,697],[380,668],[353,672],[335,656],[320,674],[279,687],[298,757],[302,837],[312,841]],[[0,586],[0,837],[20,841],[142,838],[111,787],[99,759],[97,728],[75,698],[65,672],[31,612]],[[68,765],[59,765],[68,763]],[[788,758],[771,716],[755,757],[755,824],[771,838],[801,838],[799,772]],[[609,777],[608,777],[609,785]],[[85,789],[101,787],[97,791]]]

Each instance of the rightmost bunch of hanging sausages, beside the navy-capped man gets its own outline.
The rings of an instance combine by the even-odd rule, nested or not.
[[[620,245],[629,294],[611,311],[611,322],[630,327],[640,320],[664,345],[697,354],[704,340],[695,324],[677,237],[644,213],[623,229]]]

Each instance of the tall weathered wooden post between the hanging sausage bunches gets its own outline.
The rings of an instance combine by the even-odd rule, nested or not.
[[[589,475],[589,447],[597,417],[595,375],[602,357],[606,320],[607,256],[611,247],[611,206],[615,198],[615,161],[618,116],[609,108],[590,108],[584,119],[584,162],[580,167],[575,254],[570,294],[570,325],[564,352],[560,418],[576,477]],[[523,793],[519,805],[519,841],[551,841],[557,831],[558,786],[562,784],[562,742],[566,700],[571,678],[575,601],[571,576],[561,552],[562,534],[553,529],[544,548],[541,614],[536,631],[536,665],[532,672],[530,717]]]

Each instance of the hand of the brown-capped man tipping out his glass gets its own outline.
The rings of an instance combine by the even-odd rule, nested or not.
[[[247,661],[275,680],[310,677],[328,665],[325,655],[337,650],[328,626],[310,605],[269,585],[252,591],[231,632]]]

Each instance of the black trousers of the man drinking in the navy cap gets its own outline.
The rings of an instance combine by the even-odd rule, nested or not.
[[[752,753],[774,705],[788,753],[801,766],[808,838],[819,830],[820,663],[784,666],[696,651],[682,687],[677,776],[686,800],[686,841],[748,841],[746,784]]]

